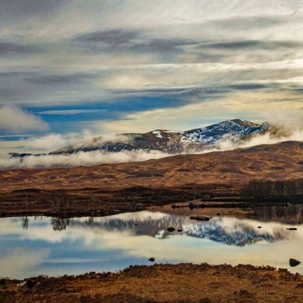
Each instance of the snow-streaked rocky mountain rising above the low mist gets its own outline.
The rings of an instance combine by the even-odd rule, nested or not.
[[[74,154],[78,151],[91,150],[121,151],[137,149],[160,150],[168,154],[190,153],[211,149],[227,137],[240,145],[250,136],[265,133],[269,129],[268,123],[256,124],[234,119],[188,131],[158,129],[144,134],[130,133],[111,137],[96,137],[63,147],[50,154]]]

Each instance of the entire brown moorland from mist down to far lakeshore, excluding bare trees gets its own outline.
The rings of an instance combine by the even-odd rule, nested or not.
[[[145,162],[6,170],[0,171],[0,215],[110,215],[201,197],[233,198],[254,178],[302,176],[300,141]]]

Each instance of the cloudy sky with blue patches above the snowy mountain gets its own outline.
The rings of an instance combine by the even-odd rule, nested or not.
[[[300,0],[0,0],[0,153],[301,123]]]

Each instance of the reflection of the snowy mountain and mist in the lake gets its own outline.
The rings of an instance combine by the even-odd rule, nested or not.
[[[138,225],[135,225],[138,224]],[[197,222],[189,217],[177,215],[162,215],[159,213],[133,213],[116,215],[107,218],[99,218],[93,222],[72,220],[71,226],[94,228],[108,232],[121,232],[131,236],[147,235],[158,239],[178,235],[178,232],[170,233],[167,228],[174,226],[182,229],[183,236],[190,236],[228,245],[239,245],[255,243],[257,241],[276,241],[287,239],[290,233],[283,227],[274,229],[258,229],[256,223],[251,220],[239,220],[234,217],[215,217],[208,222]],[[54,228],[54,227],[53,227]],[[55,228],[54,228],[55,229]],[[56,229],[55,229],[56,230]]]

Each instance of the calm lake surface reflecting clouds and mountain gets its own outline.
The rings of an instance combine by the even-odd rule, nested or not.
[[[254,208],[259,215],[223,215],[230,209],[155,207],[101,218],[0,219],[0,276],[25,278],[116,271],[134,264],[193,262],[271,265],[303,273],[303,206]],[[221,216],[216,214],[220,213]],[[186,215],[203,214],[208,222]],[[170,233],[167,228],[176,231]],[[262,226],[262,228],[258,228]],[[296,231],[286,228],[296,227]],[[177,232],[182,229],[182,232]]]

